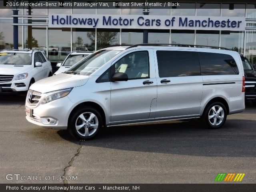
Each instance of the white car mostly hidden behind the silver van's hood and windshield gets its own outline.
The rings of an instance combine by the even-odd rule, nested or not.
[[[56,65],[57,67],[60,67],[60,68],[54,73],[54,75],[57,75],[64,71],[69,70],[69,68],[72,67],[74,64],[76,64],[80,60],[86,58],[87,56],[89,56],[92,53],[93,52],[90,52],[90,51],[74,51],[74,52],[70,53],[66,57],[66,59],[64,60],[63,63],[58,63]]]

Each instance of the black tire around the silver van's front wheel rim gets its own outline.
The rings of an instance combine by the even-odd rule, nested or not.
[[[84,115],[86,122],[84,122],[80,118],[81,114]],[[93,121],[88,122],[87,120],[89,120],[88,116],[90,116],[90,114],[94,114],[96,118],[92,118]],[[86,126],[87,123],[91,123],[90,125],[92,126]],[[82,124],[85,125],[81,127],[79,130],[76,130],[76,126],[82,126]],[[95,124],[98,124],[98,128],[96,130],[95,128],[92,128],[95,126]],[[86,127],[88,130],[88,136],[86,136]],[[90,106],[81,106],[70,115],[70,120],[68,122],[68,131],[74,138],[78,140],[89,140],[93,138],[94,136],[96,136],[96,134],[98,134],[100,128],[102,128],[102,116],[98,112],[98,110]],[[81,134],[83,132],[85,132],[84,135]]]

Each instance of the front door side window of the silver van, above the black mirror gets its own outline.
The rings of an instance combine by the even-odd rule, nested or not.
[[[149,78],[149,57],[147,51],[127,54],[114,65],[112,74],[122,72],[128,75],[128,80]]]

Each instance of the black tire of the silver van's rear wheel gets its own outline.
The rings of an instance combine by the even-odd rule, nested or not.
[[[215,108],[216,112],[218,112],[218,109],[220,109],[218,107],[221,107],[223,110],[223,113],[222,111],[220,112],[220,114],[215,113],[214,110],[212,109],[213,107]],[[209,119],[211,116],[213,117]],[[215,124],[215,118],[216,118],[216,124]],[[221,102],[213,102],[208,106],[206,106],[206,109],[204,110],[204,114],[202,116],[202,121],[207,128],[218,129],[224,125],[224,123],[226,122],[226,118],[227,118],[227,109],[224,106],[224,104],[222,104]]]

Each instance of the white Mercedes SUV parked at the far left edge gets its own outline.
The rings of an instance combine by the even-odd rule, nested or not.
[[[0,52],[0,93],[24,92],[36,81],[52,76],[52,67],[40,50]]]

